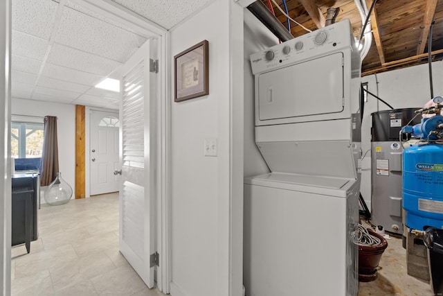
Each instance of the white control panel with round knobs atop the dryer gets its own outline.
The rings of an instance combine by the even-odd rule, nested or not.
[[[351,46],[356,50],[350,28],[350,21],[344,19],[325,28],[254,53],[251,55],[253,74],[315,58],[316,55],[325,53],[327,49],[338,51],[343,47],[349,48]],[[327,48],[325,49],[325,47]]]

